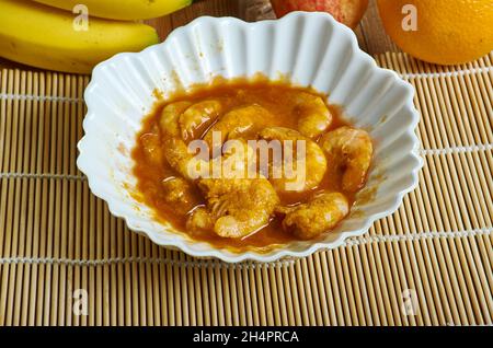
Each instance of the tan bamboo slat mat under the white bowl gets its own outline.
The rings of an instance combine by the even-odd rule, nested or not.
[[[377,60],[416,89],[420,187],[343,247],[237,266],[158,247],[90,194],[76,167],[89,78],[2,70],[0,324],[492,324],[493,54]]]

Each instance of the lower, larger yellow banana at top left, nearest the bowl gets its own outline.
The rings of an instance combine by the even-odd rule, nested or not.
[[[121,51],[158,43],[149,25],[89,18],[26,0],[0,0],[0,56],[28,66],[76,73]]]

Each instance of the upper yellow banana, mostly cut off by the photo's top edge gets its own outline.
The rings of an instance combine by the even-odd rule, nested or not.
[[[34,0],[55,8],[72,11],[79,3],[84,4],[89,15],[111,20],[148,20],[177,11],[192,0]]]

